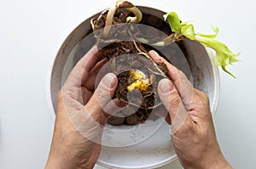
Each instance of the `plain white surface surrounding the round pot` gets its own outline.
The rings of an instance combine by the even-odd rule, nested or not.
[[[114,1],[112,1],[114,2]],[[137,0],[137,3],[154,3]],[[53,121],[45,94],[49,60],[68,28],[77,25],[111,1],[0,1],[0,168],[44,168]],[[256,15],[251,0],[169,1],[156,4],[176,11],[197,27],[211,31],[218,25],[218,40],[241,51],[234,67],[237,79],[222,71],[221,93],[214,121],[224,155],[235,168],[256,166]],[[95,7],[94,7],[95,6]],[[102,168],[96,166],[95,168]],[[162,168],[181,168],[175,163]]]

